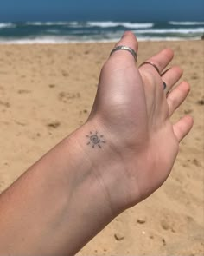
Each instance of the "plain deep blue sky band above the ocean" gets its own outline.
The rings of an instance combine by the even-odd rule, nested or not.
[[[203,21],[204,0],[0,0],[0,22]]]

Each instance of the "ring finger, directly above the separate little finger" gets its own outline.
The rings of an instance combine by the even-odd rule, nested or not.
[[[171,116],[175,109],[182,104],[182,102],[186,99],[189,91],[190,86],[188,82],[182,82],[169,93],[167,97],[167,103],[169,105],[169,116]]]

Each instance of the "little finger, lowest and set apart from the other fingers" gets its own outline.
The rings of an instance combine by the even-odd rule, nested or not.
[[[194,120],[191,116],[186,115],[182,117],[180,121],[177,121],[173,126],[175,136],[177,140],[180,142],[182,139],[188,135],[189,131],[193,127]]]

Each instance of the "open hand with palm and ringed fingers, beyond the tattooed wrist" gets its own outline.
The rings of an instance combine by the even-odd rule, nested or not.
[[[136,51],[138,48],[131,32],[124,33],[118,45]],[[163,72],[172,58],[173,51],[163,49],[147,61],[154,62]],[[117,167],[108,169],[108,175],[105,168],[95,170],[103,180],[113,208],[118,204],[122,207],[135,205],[152,194],[169,176],[179,142],[193,126],[190,116],[175,124],[169,121],[189,92],[187,82],[172,89],[181,76],[179,67],[172,67],[162,77],[150,64],[137,69],[133,56],[125,50],[115,51],[105,63],[87,122],[94,121],[103,128],[107,145],[112,148],[109,157],[118,162]],[[167,84],[165,90],[163,81]],[[115,184],[110,182],[110,175],[115,177]]]

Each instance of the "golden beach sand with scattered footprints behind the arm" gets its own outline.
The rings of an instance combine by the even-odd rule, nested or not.
[[[163,187],[119,215],[78,256],[203,255],[203,43],[139,43],[138,63],[163,47],[175,50],[173,64],[182,66],[192,90],[172,121],[193,115],[194,128]],[[86,121],[112,47],[0,45],[0,192]]]

